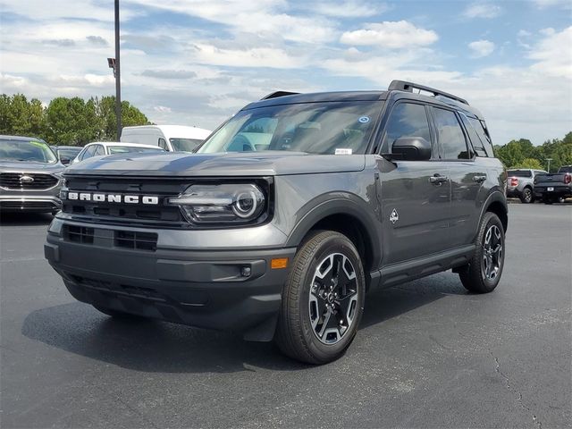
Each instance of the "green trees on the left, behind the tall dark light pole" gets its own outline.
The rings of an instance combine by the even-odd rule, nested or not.
[[[146,125],[147,116],[122,101],[122,125]],[[39,137],[50,145],[83,146],[117,140],[115,97],[56,97],[49,105],[22,94],[0,96],[0,134]]]

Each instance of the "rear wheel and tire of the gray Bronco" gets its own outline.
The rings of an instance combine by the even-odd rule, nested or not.
[[[484,214],[475,245],[475,254],[458,276],[465,289],[471,292],[492,292],[499,284],[504,268],[504,229],[499,216],[491,212]]]

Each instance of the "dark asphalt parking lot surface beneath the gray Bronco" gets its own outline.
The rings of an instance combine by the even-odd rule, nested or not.
[[[340,360],[76,302],[49,215],[4,216],[1,422],[9,427],[570,427],[572,206],[510,205],[492,294],[453,273],[371,295]]]

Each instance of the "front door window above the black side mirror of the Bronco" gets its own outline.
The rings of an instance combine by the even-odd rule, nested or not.
[[[382,153],[390,153],[395,140],[401,137],[422,137],[431,141],[424,105],[400,103],[393,107],[385,126]]]

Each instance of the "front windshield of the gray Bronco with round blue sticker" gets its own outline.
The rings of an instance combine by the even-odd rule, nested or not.
[[[240,111],[198,153],[287,150],[319,155],[364,154],[382,104],[328,102]]]

